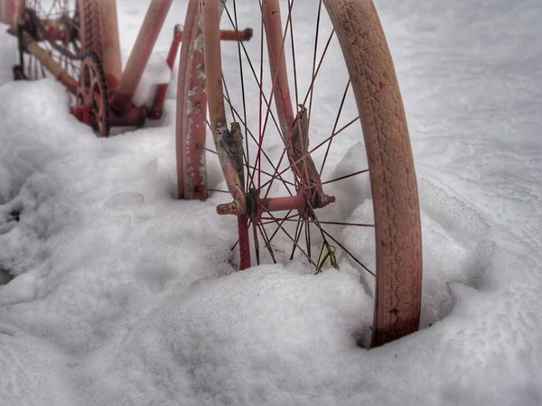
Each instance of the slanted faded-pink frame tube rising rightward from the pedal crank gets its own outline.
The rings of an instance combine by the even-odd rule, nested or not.
[[[152,0],[149,5],[145,20],[137,34],[134,49],[130,53],[117,91],[111,99],[111,109],[117,115],[125,115],[132,106],[135,90],[141,81],[172,2],[173,0]]]

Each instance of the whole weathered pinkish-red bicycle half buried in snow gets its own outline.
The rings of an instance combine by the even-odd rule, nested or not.
[[[19,38],[15,78],[57,78],[75,98],[72,114],[99,136],[162,116],[167,85],[151,109],[132,99],[172,0],[151,1],[124,71],[116,2],[52,0],[49,12],[38,0],[0,2],[0,20]],[[252,29],[239,29],[243,13],[258,15]],[[315,23],[307,42],[309,17]],[[374,278],[371,347],[416,331],[422,283],[416,172],[372,1],[262,0],[240,8],[234,0],[190,0],[183,29],[175,27],[170,67],[180,42],[179,198],[229,194],[217,211],[238,219],[240,270],[267,262],[314,272],[353,268],[369,291]],[[313,50],[300,51],[308,43]],[[339,79],[341,88],[333,82]],[[337,113],[329,120],[331,111]],[[208,131],[214,147],[206,143]],[[208,184],[207,155],[220,161],[226,189]]]

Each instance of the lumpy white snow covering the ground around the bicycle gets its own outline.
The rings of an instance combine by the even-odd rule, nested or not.
[[[118,1],[124,55],[145,4]],[[542,5],[376,4],[416,158],[423,329],[356,346],[372,304],[348,267],[233,272],[220,197],[173,198],[174,88],[160,126],[98,139],[58,83],[11,81],[2,32],[3,406],[542,404]],[[164,29],[156,54],[170,41]]]

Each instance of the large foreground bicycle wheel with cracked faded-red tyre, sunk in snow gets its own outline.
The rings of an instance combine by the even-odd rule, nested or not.
[[[201,15],[197,3],[192,0],[185,27],[199,34],[185,37],[182,46],[201,60],[203,42],[205,63],[182,53],[178,125],[195,111],[204,125],[206,111],[201,101],[191,102],[186,83],[205,77],[208,126],[228,180],[217,191],[235,198],[220,210],[238,214],[239,268],[354,268],[374,299],[374,316],[366,320],[370,345],[416,331],[422,281],[416,173],[372,1],[244,3],[254,39],[223,43],[222,52],[223,2],[201,2]],[[223,28],[241,25],[238,5],[224,5]],[[177,130],[185,155],[179,183],[186,185],[195,161],[185,148],[192,134],[184,126]],[[203,177],[188,187],[212,191]]]

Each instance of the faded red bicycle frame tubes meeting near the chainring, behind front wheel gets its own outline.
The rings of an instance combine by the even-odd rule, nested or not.
[[[135,106],[133,99],[173,0],[151,0],[124,70],[122,69],[120,55],[117,2],[112,0],[78,1],[79,5],[83,2],[92,3],[95,7],[98,7],[101,16],[103,49],[101,64],[107,82],[111,126],[142,126],[145,124],[146,118],[160,119],[163,115],[167,84],[162,84],[157,88],[154,103],[150,109],[147,109],[146,106]],[[61,65],[52,60],[49,53],[40,46],[39,42],[43,38],[39,35],[33,38],[25,32],[19,32],[18,26],[23,23],[25,9],[25,0],[0,0],[0,21],[10,24],[8,31],[12,34],[23,35],[24,51],[32,54],[70,93],[76,95],[78,90],[77,80],[71,78]],[[83,7],[79,7],[79,9],[83,9]],[[62,17],[56,20],[42,20],[40,23],[45,26],[48,35],[53,39],[62,40],[70,35],[69,19]],[[245,39],[248,40],[250,36],[251,32],[247,30],[244,32],[222,32],[221,39],[244,41]],[[170,69],[173,69],[173,63],[181,41],[182,30],[180,25],[176,25],[173,32],[173,42],[166,60]],[[89,124],[87,122],[90,116],[88,107],[72,106],[71,113],[78,117],[80,121]]]

